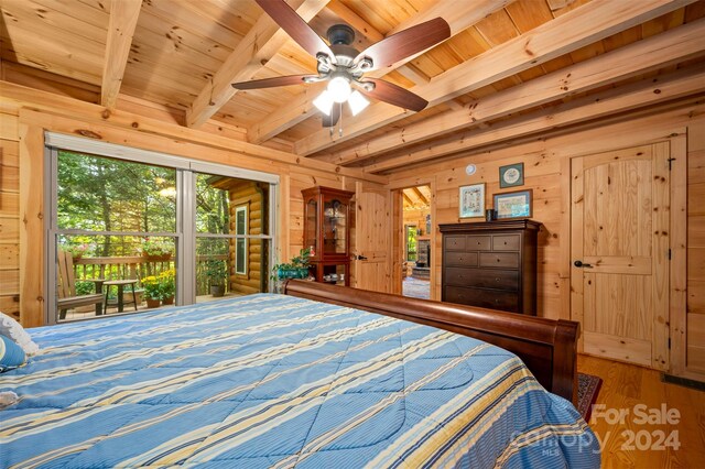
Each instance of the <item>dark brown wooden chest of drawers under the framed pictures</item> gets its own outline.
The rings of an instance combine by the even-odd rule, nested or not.
[[[540,227],[524,219],[441,225],[442,301],[535,315]]]

